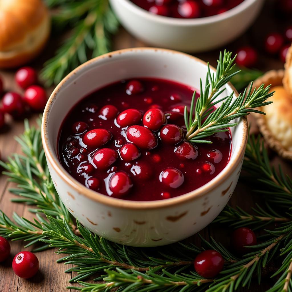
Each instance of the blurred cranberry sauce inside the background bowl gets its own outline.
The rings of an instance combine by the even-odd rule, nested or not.
[[[153,14],[175,18],[199,18],[230,10],[244,0],[131,0]]]

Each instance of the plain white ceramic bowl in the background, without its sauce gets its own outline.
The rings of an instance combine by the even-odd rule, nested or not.
[[[208,51],[234,40],[256,19],[263,2],[244,0],[219,15],[180,19],[151,14],[130,0],[110,0],[121,24],[135,37],[153,46],[185,52]]]

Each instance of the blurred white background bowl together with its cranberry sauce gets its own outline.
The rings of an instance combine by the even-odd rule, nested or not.
[[[150,9],[146,4],[148,1],[154,6],[152,13],[140,7]],[[154,14],[181,16],[175,11],[171,13],[166,2],[173,2],[171,9],[178,8],[180,2],[180,14],[190,18]],[[153,46],[185,52],[208,51],[234,40],[256,19],[263,2],[264,0],[110,0],[121,24],[135,37]],[[161,9],[163,3],[166,9]],[[222,9],[232,7],[227,5],[232,3],[238,5],[221,13]],[[211,16],[201,17],[206,15]]]

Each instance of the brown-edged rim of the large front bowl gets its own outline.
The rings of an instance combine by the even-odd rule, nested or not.
[[[186,54],[186,53],[181,53],[178,51],[174,50],[169,50],[169,49],[161,49],[161,48],[150,48],[150,47],[141,47],[141,48],[127,48],[127,49],[122,49],[122,50],[117,50],[113,51],[98,57],[95,57],[91,60],[88,60],[87,62],[81,64],[74,70],[72,70],[69,74],[67,74],[62,81],[55,87],[53,90],[52,94],[50,95],[48,102],[46,104],[46,107],[44,109],[44,114],[42,118],[42,123],[41,123],[41,139],[42,139],[42,144],[44,147],[44,152],[46,155],[46,159],[49,161],[51,164],[51,167],[54,168],[56,173],[59,175],[59,177],[66,183],[69,184],[72,188],[74,188],[79,195],[85,196],[88,199],[91,199],[95,202],[107,205],[107,206],[112,206],[112,207],[117,207],[117,208],[126,208],[126,209],[132,209],[132,210],[137,210],[137,209],[157,209],[157,208],[165,208],[165,207],[171,207],[174,205],[178,204],[183,204],[187,201],[197,199],[198,197],[204,196],[207,194],[210,190],[213,190],[214,188],[218,187],[219,185],[223,184],[229,177],[230,175],[235,171],[237,168],[238,164],[241,163],[241,160],[244,157],[244,152],[245,152],[245,147],[247,143],[247,136],[248,136],[248,125],[247,125],[247,118],[243,117],[242,122],[243,122],[243,133],[242,133],[242,140],[239,145],[239,150],[234,154],[236,155],[233,163],[228,162],[225,168],[217,175],[215,178],[213,178],[210,182],[207,184],[199,187],[196,190],[193,190],[192,192],[189,192],[187,194],[180,195],[178,197],[166,199],[166,200],[157,200],[157,201],[130,201],[130,200],[124,200],[124,199],[119,199],[119,198],[114,198],[114,197],[109,197],[104,194],[101,194],[99,192],[93,191],[88,189],[86,186],[82,185],[79,183],[77,180],[75,180],[66,170],[65,168],[60,164],[57,155],[55,155],[53,150],[51,151],[49,147],[49,140],[50,138],[48,137],[48,116],[49,112],[51,110],[51,106],[56,98],[56,95],[60,91],[60,89],[66,84],[66,82],[71,79],[74,75],[77,75],[77,72],[81,69],[86,68],[88,65],[91,65],[92,63],[98,62],[99,60],[108,58],[109,60],[112,59],[113,55],[121,55],[123,53],[127,52],[133,52],[133,51],[152,51],[153,53],[157,51],[161,52],[167,52],[167,53],[175,53],[175,54],[180,54],[182,56],[186,56],[189,58],[192,58],[193,60],[197,62],[201,62],[204,65],[207,66],[207,63],[197,57],[194,57],[192,55]],[[210,66],[211,69],[215,70],[214,67]],[[228,82],[228,86],[234,91],[234,95],[238,97],[238,92],[234,88],[234,86]]]

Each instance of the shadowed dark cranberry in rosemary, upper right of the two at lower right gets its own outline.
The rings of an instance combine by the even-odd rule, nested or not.
[[[234,230],[231,236],[232,247],[239,254],[251,252],[252,250],[246,248],[246,246],[256,245],[256,241],[256,234],[247,227],[241,227]]]

